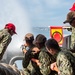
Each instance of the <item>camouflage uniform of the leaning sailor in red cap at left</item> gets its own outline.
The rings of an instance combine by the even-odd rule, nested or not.
[[[0,60],[2,59],[7,46],[11,42],[11,39],[11,35],[7,29],[0,30]]]

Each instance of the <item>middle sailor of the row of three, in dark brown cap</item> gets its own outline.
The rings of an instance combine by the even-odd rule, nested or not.
[[[55,75],[56,72],[51,71],[50,64],[55,62],[55,58],[50,55],[45,48],[46,37],[42,34],[38,34],[35,39],[35,45],[40,49],[38,60],[40,72],[42,75]]]

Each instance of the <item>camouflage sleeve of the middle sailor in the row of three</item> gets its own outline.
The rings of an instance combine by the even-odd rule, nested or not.
[[[49,75],[51,72],[50,69],[50,57],[46,52],[40,52],[39,61],[41,65],[39,66],[40,71],[43,75]]]

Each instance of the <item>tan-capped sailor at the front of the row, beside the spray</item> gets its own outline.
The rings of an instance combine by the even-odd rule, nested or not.
[[[33,44],[33,39],[34,39],[33,34],[28,33],[25,35],[25,41],[26,41],[26,43],[29,44],[28,45],[29,49],[25,53],[25,57],[24,57],[23,62],[22,62],[25,75],[41,75],[41,72],[40,72],[37,64],[35,62],[31,61],[31,58],[38,59],[38,54],[39,54],[39,53],[34,54],[32,51],[33,48],[35,48],[35,45]]]

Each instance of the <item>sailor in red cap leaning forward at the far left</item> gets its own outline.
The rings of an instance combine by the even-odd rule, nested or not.
[[[4,29],[0,30],[0,60],[2,59],[14,34],[17,34],[16,27],[12,23],[6,24]]]

